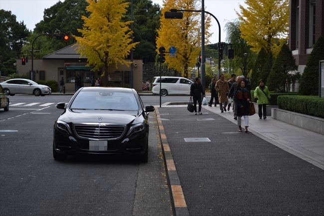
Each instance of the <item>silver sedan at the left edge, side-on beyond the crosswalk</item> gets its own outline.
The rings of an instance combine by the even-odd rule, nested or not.
[[[33,94],[35,96],[45,96],[51,94],[52,90],[46,85],[40,85],[30,79],[9,79],[0,83],[6,94]]]

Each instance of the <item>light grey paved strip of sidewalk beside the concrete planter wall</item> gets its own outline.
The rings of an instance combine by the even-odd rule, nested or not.
[[[187,105],[167,105],[162,107],[186,107]],[[198,105],[197,105],[198,106]],[[216,113],[237,124],[230,111],[221,113],[217,107],[202,106],[202,108]],[[242,123],[244,118],[242,117]],[[244,130],[244,127],[243,127]],[[324,170],[324,136],[290,125],[267,116],[266,120],[259,119],[258,114],[249,116],[249,131],[261,139],[321,168]]]

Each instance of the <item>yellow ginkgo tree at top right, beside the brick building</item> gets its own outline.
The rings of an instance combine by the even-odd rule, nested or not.
[[[278,53],[287,40],[289,31],[289,0],[245,0],[247,7],[240,5],[241,36],[259,52]]]

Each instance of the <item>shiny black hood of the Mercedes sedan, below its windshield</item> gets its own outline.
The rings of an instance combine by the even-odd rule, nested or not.
[[[137,111],[107,111],[107,110],[66,110],[58,120],[78,123],[108,123],[127,125],[137,117]]]

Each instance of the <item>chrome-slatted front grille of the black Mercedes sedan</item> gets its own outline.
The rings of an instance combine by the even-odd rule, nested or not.
[[[124,126],[106,124],[77,124],[74,125],[76,134],[87,139],[118,139],[125,130]]]

